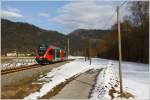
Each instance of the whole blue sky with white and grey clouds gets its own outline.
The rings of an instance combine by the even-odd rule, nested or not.
[[[2,1],[1,16],[68,34],[78,28],[109,29],[116,22],[116,6],[122,2]],[[129,13],[127,5],[124,5],[120,12],[122,20],[123,16]]]

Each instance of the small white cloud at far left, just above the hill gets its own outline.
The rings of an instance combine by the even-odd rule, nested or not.
[[[23,18],[24,16],[20,14],[19,12],[16,11],[10,11],[10,10],[1,10],[1,17],[21,17]]]

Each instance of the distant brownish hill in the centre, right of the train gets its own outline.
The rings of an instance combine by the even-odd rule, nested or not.
[[[102,43],[107,34],[111,30],[96,30],[96,29],[77,29],[71,32],[68,37],[70,38],[70,48],[73,55],[85,55],[85,50],[88,48],[88,43],[91,43],[93,49]],[[94,52],[94,51],[93,51]]]

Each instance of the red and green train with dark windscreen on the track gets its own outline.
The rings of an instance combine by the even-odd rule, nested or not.
[[[52,62],[64,61],[66,52],[63,49],[45,44],[36,49],[36,61],[39,64],[50,64]]]

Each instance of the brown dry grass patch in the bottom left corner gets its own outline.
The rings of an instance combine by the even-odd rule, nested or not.
[[[24,81],[26,80],[26,81]],[[1,88],[2,99],[22,99],[30,93],[38,91],[41,87],[40,84],[32,84],[33,77],[25,78],[17,85],[6,85]],[[27,81],[28,80],[28,81]]]

